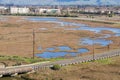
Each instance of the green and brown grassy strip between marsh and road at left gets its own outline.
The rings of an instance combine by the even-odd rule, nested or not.
[[[44,61],[58,61],[63,60],[65,58],[28,58],[28,57],[19,57],[19,56],[0,56],[0,62],[5,63],[6,66],[17,66],[22,64],[32,64],[36,62],[44,62]]]

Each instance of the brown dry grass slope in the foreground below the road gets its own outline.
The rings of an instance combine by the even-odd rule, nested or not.
[[[41,69],[23,75],[28,80],[119,80],[120,57],[62,67],[58,71]]]

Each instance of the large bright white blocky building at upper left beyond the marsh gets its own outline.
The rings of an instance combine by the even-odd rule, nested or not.
[[[29,12],[30,9],[26,7],[10,7],[11,14],[28,14]]]

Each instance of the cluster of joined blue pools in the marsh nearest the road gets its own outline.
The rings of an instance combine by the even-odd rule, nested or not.
[[[60,46],[58,47],[58,49],[60,49],[60,52],[54,52],[55,48],[46,48],[45,52],[40,54],[38,53],[35,56],[42,58],[57,58],[57,57],[64,57],[66,55],[76,56],[77,54],[86,53],[89,51],[86,48],[80,48],[77,50],[77,52],[67,52],[72,50],[68,46]]]

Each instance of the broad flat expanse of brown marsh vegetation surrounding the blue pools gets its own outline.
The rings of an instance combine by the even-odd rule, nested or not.
[[[80,38],[101,36],[102,34],[96,34],[91,31],[74,31],[64,30],[64,28],[70,28],[74,26],[57,27],[56,23],[49,22],[30,22],[23,19],[24,17],[8,16],[7,21],[0,21],[0,55],[12,55],[21,57],[32,57],[32,30],[35,29],[35,53],[45,51],[48,47],[55,46],[69,46],[76,51],[78,48],[88,48],[92,50],[92,46],[80,46]],[[67,20],[68,22],[73,20]],[[111,24],[94,23],[88,21],[74,20],[76,23],[85,23],[94,26],[113,26]],[[57,28],[56,28],[57,27]],[[42,30],[46,28],[47,30]],[[110,31],[102,31],[102,33],[113,34]],[[110,49],[118,48],[119,37],[111,37],[109,40],[113,40],[114,44],[111,44]],[[38,47],[42,47],[42,51],[38,51]],[[107,47],[96,45],[96,52],[106,51]],[[91,51],[92,52],[92,51]],[[90,53],[91,53],[90,52]]]

